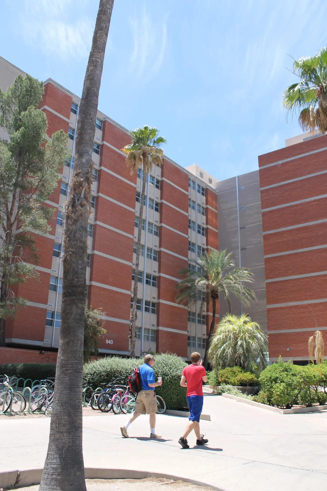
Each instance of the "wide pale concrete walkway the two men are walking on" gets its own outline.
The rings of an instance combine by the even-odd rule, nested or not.
[[[201,481],[226,491],[325,489],[327,414],[276,414],[219,396],[204,397],[201,421],[208,445],[183,450],[177,440],[187,419],[157,416],[159,440],[141,416],[122,438],[126,415],[83,418],[85,467],[134,468]],[[49,419],[0,421],[0,471],[42,467]],[[195,435],[190,435],[190,446]]]

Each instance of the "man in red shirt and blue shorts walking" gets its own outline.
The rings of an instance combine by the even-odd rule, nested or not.
[[[180,386],[187,387],[186,400],[190,409],[189,422],[187,423],[184,435],[178,440],[178,443],[183,448],[190,448],[186,437],[194,430],[197,436],[197,445],[208,443],[207,438],[200,435],[200,415],[203,406],[202,381],[207,382],[208,378],[205,373],[205,368],[202,366],[200,353],[194,352],[191,355],[192,365],[188,365],[182,371]]]

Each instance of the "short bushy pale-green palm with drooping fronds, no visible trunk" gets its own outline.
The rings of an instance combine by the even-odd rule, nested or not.
[[[257,361],[264,369],[267,365],[267,340],[259,324],[252,322],[247,314],[227,314],[211,339],[208,357],[215,368],[237,365],[250,370]]]

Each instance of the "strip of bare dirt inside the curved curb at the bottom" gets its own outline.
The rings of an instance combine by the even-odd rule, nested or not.
[[[167,484],[166,484],[167,483]],[[171,482],[168,479],[150,477],[147,479],[86,479],[87,491],[213,491],[206,486],[185,482]],[[21,491],[37,491],[39,485],[20,488]]]

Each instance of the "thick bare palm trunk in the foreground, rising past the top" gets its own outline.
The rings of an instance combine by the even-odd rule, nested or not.
[[[87,223],[99,89],[114,0],[100,0],[84,78],[73,179],[65,210],[61,327],[48,453],[40,491],[86,491],[82,452],[82,374]]]

